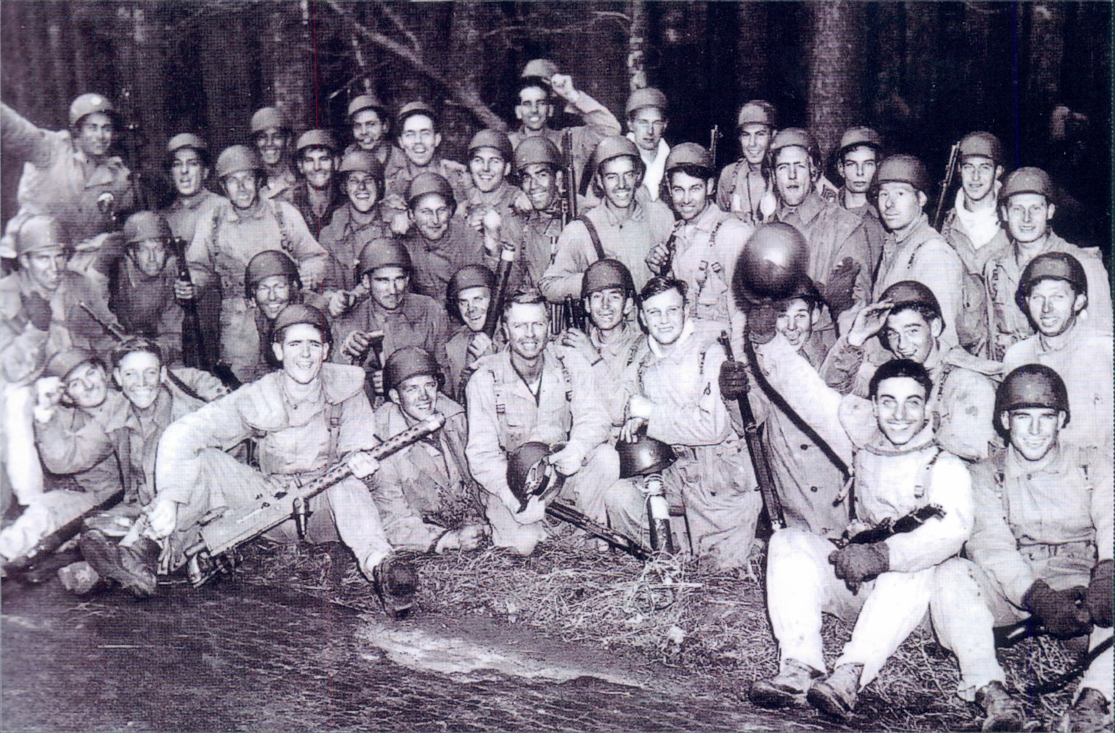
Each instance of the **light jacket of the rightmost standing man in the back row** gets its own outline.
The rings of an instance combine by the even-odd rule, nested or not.
[[[1080,262],[1088,280],[1088,307],[1082,314],[1082,322],[1098,330],[1109,331],[1112,329],[1111,280],[1097,251],[1069,244],[1054,232],[1049,232],[1041,252],[1067,252]],[[1026,264],[1027,262],[1018,260],[1015,244],[1009,240],[1001,242],[996,250],[988,253],[983,266],[983,281],[987,284],[991,358],[1004,358],[1011,345],[1034,334],[1029,319],[1019,310],[1015,300]]]

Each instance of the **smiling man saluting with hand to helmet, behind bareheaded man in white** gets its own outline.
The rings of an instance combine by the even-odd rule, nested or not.
[[[920,282],[895,282],[882,292],[878,303],[861,310],[852,329],[830,350],[821,376],[841,394],[865,397],[875,365],[864,357],[874,348],[876,360],[912,359],[924,366],[933,379],[929,407],[939,422],[937,444],[967,461],[987,457],[995,438],[990,426],[995,404],[996,361],[970,355],[962,347],[946,348],[944,318],[933,292]],[[878,336],[884,353],[866,345]]]

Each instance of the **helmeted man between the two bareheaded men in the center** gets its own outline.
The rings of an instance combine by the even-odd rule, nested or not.
[[[581,303],[588,314],[585,331],[570,327],[559,337],[592,366],[601,397],[609,403],[612,438],[623,425],[627,396],[614,387],[647,353],[647,338],[633,320],[636,307],[631,273],[619,260],[597,260],[581,280]]]

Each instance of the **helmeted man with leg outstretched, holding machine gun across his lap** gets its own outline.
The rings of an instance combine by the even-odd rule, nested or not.
[[[164,431],[155,463],[158,493],[148,521],[156,537],[169,538],[171,553],[181,558],[181,551],[197,541],[200,520],[213,510],[253,507],[260,494],[304,484],[343,461],[352,474],[308,502],[307,539],[343,542],[381,598],[394,597],[391,602],[385,598],[385,607],[401,614],[413,605],[417,576],[392,557],[365,483],[379,465],[365,453],[377,441],[375,416],[362,389],[363,373],[327,363],[331,345],[321,311],[288,306],[272,331],[272,348],[282,369]],[[258,440],[259,470],[236,462],[223,450],[249,437]],[[266,536],[297,541],[293,518]],[[400,576],[409,587],[392,594],[392,579]]]

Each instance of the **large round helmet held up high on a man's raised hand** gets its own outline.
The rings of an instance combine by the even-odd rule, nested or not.
[[[731,278],[740,309],[759,298],[782,300],[805,276],[809,250],[805,237],[791,224],[758,226],[744,244]]]

